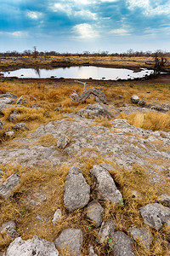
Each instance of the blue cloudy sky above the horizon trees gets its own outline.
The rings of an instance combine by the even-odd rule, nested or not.
[[[170,51],[170,0],[0,0],[0,52]]]

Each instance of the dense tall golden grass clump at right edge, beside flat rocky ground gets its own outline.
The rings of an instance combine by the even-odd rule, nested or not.
[[[152,131],[170,131],[169,113],[131,113],[127,116],[130,125]]]

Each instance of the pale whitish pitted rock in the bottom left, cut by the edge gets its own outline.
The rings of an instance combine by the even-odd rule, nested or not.
[[[21,237],[15,238],[8,247],[5,256],[58,256],[59,252],[54,246],[54,242],[44,240],[38,236],[24,241]]]

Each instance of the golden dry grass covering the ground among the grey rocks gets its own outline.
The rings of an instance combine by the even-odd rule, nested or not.
[[[92,82],[91,82],[92,83]],[[145,82],[146,83],[146,82]],[[144,97],[146,102],[169,102],[170,99],[170,85],[160,84],[155,87],[154,84],[115,84],[107,86],[104,89],[107,96],[108,103],[116,107],[122,105],[122,102],[130,103],[130,96],[138,94],[140,98]],[[38,86],[37,86],[38,85]],[[92,84],[90,84],[91,86]],[[95,86],[98,86],[95,84]],[[32,108],[8,108],[4,111],[2,121],[6,122],[3,130],[0,131],[2,137],[2,144],[8,144],[8,147],[13,147],[13,141],[4,141],[3,132],[12,128],[14,123],[24,121],[28,125],[30,131],[35,131],[38,125],[48,123],[52,120],[62,119],[63,112],[77,113],[80,108],[85,108],[89,103],[94,103],[94,99],[89,99],[83,104],[71,103],[70,95],[73,90],[82,93],[82,86],[74,82],[45,84],[45,83],[20,83],[20,82],[4,82],[0,83],[0,93],[12,92],[17,96],[26,96],[26,106],[38,104],[42,108],[36,110]],[[147,91],[150,90],[150,93]],[[119,95],[123,97],[120,98]],[[157,100],[156,100],[157,98]],[[54,108],[61,106],[63,112],[55,112]],[[8,121],[8,116],[14,109],[20,111],[20,115],[14,122]],[[48,112],[48,116],[44,113]],[[128,115],[127,120],[131,125],[136,125],[144,129],[153,131],[170,131],[170,113],[132,113]],[[111,127],[111,121],[108,119],[96,119],[100,125]],[[26,136],[28,131],[16,132],[15,137]],[[50,134],[40,137],[39,143],[45,146],[56,145],[57,140]],[[97,153],[96,153],[97,154]],[[77,157],[75,163],[79,161],[82,163],[82,172],[88,184],[94,189],[94,180],[89,176],[90,169],[94,164],[103,162],[103,159],[86,159],[84,157]],[[112,163],[111,163],[112,164]],[[5,176],[9,177],[11,174],[17,172],[20,174],[21,183],[15,189],[14,195],[8,200],[0,200],[0,226],[10,219],[13,219],[17,224],[18,235],[23,239],[29,239],[33,235],[40,236],[49,241],[59,235],[61,230],[71,227],[79,227],[83,231],[83,248],[82,255],[88,254],[88,244],[94,244],[94,249],[99,255],[110,255],[112,251],[111,241],[108,241],[104,246],[99,246],[95,242],[95,238],[99,229],[93,228],[93,223],[90,223],[85,218],[85,211],[83,209],[75,212],[67,212],[63,204],[65,177],[68,173],[69,166],[60,166],[52,168],[46,166],[43,169],[38,167],[26,168],[23,166],[0,166],[3,169]],[[114,166],[111,171],[112,177],[116,181],[118,189],[123,195],[122,205],[116,207],[111,202],[100,201],[101,205],[105,207],[104,219],[114,218],[116,220],[116,230],[122,230],[130,236],[128,228],[130,226],[141,227],[144,225],[142,218],[139,215],[138,209],[148,203],[156,201],[158,195],[169,193],[169,183],[164,183],[161,187],[159,184],[150,186],[148,178],[142,168],[133,166],[133,170],[124,170]],[[139,193],[139,197],[132,197],[132,190]],[[46,201],[41,206],[31,206],[29,200],[35,199],[35,196],[41,191],[44,195],[48,195]],[[59,223],[52,224],[52,218],[55,210],[59,208],[62,211],[62,218]],[[37,215],[40,220],[37,219]],[[148,227],[147,227],[148,228]],[[49,231],[50,230],[50,231]],[[151,230],[151,229],[150,229]],[[151,230],[153,242],[150,251],[144,249],[140,241],[134,242],[133,251],[136,255],[168,255],[167,241],[170,242],[170,230],[165,225],[161,231]],[[6,249],[10,239],[7,234],[0,233],[0,246],[3,250]],[[64,255],[69,255],[64,253]]]

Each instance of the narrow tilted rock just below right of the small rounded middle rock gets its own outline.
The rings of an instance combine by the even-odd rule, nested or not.
[[[104,221],[99,230],[98,237],[96,239],[99,243],[105,243],[108,238],[112,238],[115,232],[116,224],[110,219],[108,221]]]

